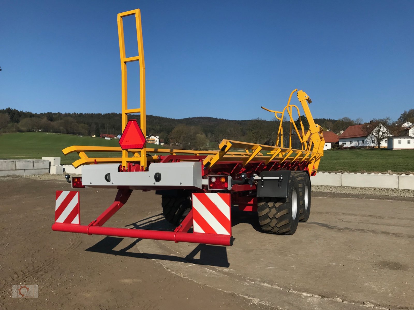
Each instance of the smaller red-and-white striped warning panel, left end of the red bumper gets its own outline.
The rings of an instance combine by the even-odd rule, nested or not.
[[[80,224],[79,192],[56,191],[55,222]]]

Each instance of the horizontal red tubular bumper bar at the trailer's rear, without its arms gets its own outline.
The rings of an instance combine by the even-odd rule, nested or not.
[[[88,235],[104,235],[128,238],[143,238],[154,240],[165,240],[175,242],[192,242],[212,244],[217,246],[232,246],[233,236],[219,234],[187,233],[181,231],[159,231],[146,229],[128,229],[100,226],[86,226],[78,224],[55,223],[52,225],[54,231],[75,232]]]

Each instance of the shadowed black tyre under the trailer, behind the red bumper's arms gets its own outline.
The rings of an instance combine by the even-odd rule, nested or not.
[[[171,224],[178,226],[191,210],[191,191],[178,190],[177,195],[162,195],[162,214]]]

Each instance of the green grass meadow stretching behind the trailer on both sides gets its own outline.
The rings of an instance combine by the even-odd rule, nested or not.
[[[64,156],[62,149],[71,145],[119,146],[117,140],[79,137],[67,134],[26,132],[0,135],[0,159],[40,159],[42,156],[61,157],[62,164],[79,159],[77,154]],[[147,144],[157,148],[159,145]],[[161,146],[162,147],[162,146]],[[92,157],[92,154],[89,153]],[[118,157],[119,153],[99,153],[99,157]],[[326,150],[319,171],[414,172],[414,150]]]

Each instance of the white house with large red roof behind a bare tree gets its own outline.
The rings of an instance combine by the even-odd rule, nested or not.
[[[370,126],[372,128],[370,128]],[[375,126],[373,123],[369,124],[359,124],[349,126],[340,136],[339,136],[339,145],[344,146],[356,146],[356,147],[366,147],[366,146],[377,146],[377,140],[372,132],[380,131],[382,134],[387,137],[394,136],[393,134],[385,128],[383,124]],[[380,143],[381,148],[388,147],[388,138],[385,138]]]

